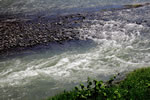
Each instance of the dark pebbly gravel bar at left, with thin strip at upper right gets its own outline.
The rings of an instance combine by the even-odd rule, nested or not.
[[[149,5],[149,3],[125,5],[121,9],[137,8],[145,5]],[[82,23],[85,19],[107,20],[101,18],[102,15],[99,12],[55,17],[0,15],[0,53],[14,48],[32,47],[49,42],[62,43],[63,41],[80,39],[79,31],[75,29],[83,27]]]

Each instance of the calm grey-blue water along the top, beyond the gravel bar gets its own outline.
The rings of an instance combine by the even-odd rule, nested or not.
[[[149,0],[0,0],[0,14],[48,11],[51,14],[80,12],[85,8],[125,5]],[[84,11],[84,10],[83,10]]]

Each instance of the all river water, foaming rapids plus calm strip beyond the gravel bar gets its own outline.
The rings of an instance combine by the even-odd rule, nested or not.
[[[53,11],[144,1],[148,2],[0,0],[0,8],[4,9],[2,13],[27,9]],[[86,19],[81,28],[73,30],[80,32],[81,40],[50,43],[1,56],[0,100],[41,100],[71,89],[87,77],[108,80],[111,75],[150,66],[150,6],[104,11],[101,18]]]

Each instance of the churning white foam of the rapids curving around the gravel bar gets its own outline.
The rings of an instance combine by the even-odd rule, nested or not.
[[[131,10],[119,13],[119,16],[122,17],[127,12]],[[104,15],[111,13],[104,12]],[[37,78],[52,78],[66,83],[77,82],[88,76],[109,76],[150,65],[149,40],[142,35],[143,30],[150,30],[149,27],[126,20],[84,20],[84,23],[86,22],[92,24],[75,30],[79,30],[81,39],[93,40],[96,44],[94,48],[85,51],[82,51],[82,47],[77,50],[75,48],[55,56],[48,56],[51,51],[47,51],[46,54],[33,54],[28,58],[6,61],[5,65],[8,66],[0,73],[0,85],[22,85]],[[143,46],[140,46],[141,44]],[[66,49],[69,46],[68,44]],[[46,58],[43,58],[44,55]]]

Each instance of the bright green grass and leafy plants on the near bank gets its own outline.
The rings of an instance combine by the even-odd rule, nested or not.
[[[119,84],[88,79],[72,91],[63,92],[48,100],[150,100],[150,68],[130,72]]]

